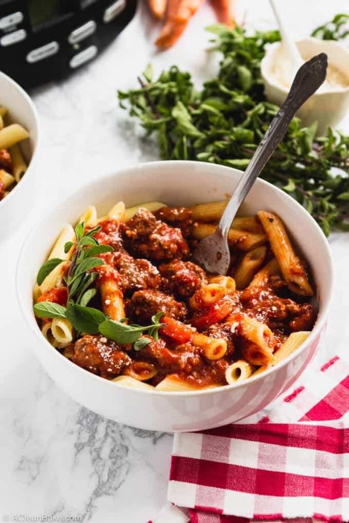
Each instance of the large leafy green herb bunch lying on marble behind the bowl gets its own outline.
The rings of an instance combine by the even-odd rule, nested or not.
[[[342,18],[334,20],[332,38],[343,36]],[[119,103],[130,108],[148,134],[156,131],[164,160],[244,169],[278,110],[265,99],[260,64],[265,45],[280,36],[278,31],[249,36],[222,25],[208,31],[223,58],[217,77],[199,92],[190,74],[178,67],[154,80],[148,66],[140,88],[118,92]],[[315,133],[316,124],[302,127],[294,118],[261,176],[297,199],[328,235],[332,227],[349,230],[349,137],[330,128],[323,138],[314,138]]]

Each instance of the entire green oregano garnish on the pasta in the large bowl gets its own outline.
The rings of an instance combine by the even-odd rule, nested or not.
[[[74,248],[69,271],[64,278],[67,286],[66,306],[42,301],[34,305],[34,313],[38,318],[67,319],[77,333],[103,334],[120,345],[133,344],[134,350],[140,350],[151,342],[149,337],[144,337],[142,334],[147,333],[153,339],[158,339],[159,329],[165,325],[160,323],[163,312],[152,316],[151,325],[128,325],[127,318],[123,318],[119,322],[110,320],[102,311],[86,306],[97,293],[97,289],[92,285],[98,277],[98,272],[91,272],[91,269],[104,265],[103,259],[98,258],[97,255],[114,251],[109,245],[99,245],[96,238],[93,237],[100,229],[101,227],[98,225],[85,232],[84,223],[76,225],[76,242],[67,242],[64,246],[65,253]],[[47,260],[38,272],[38,285],[41,285],[62,261],[61,258]]]

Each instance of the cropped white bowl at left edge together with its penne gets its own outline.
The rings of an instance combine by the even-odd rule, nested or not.
[[[13,79],[0,72],[0,238],[13,233],[32,207],[38,143],[34,104]]]

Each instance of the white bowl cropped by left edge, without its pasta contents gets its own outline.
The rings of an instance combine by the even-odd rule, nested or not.
[[[19,183],[0,201],[0,240],[13,233],[25,218],[35,198],[35,169],[38,158],[39,117],[27,93],[0,72],[0,105],[8,108],[10,123],[20,123],[30,137],[21,142],[28,169]]]

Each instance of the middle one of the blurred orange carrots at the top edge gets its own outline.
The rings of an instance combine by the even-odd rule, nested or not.
[[[157,47],[167,49],[173,46],[202,2],[204,0],[169,0],[166,23],[155,42]]]

